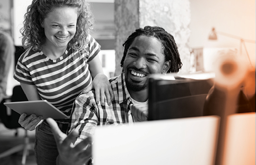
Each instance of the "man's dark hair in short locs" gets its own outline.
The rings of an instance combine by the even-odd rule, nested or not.
[[[182,62],[174,37],[170,33],[166,32],[164,28],[158,26],[145,26],[144,28],[138,28],[128,37],[128,39],[123,44],[125,48],[123,58],[121,60],[121,67],[124,65],[124,60],[129,47],[131,46],[134,39],[140,35],[155,37],[162,43],[165,54],[165,61],[171,61],[171,67],[167,72],[175,73],[181,69]]]

